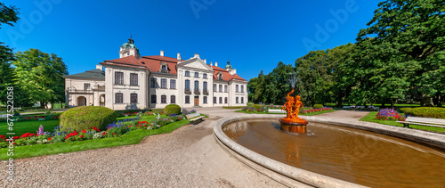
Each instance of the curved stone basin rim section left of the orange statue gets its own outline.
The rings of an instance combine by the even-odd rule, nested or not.
[[[343,180],[339,180],[339,179],[336,179],[333,177],[323,176],[323,175],[313,173],[311,171],[307,171],[307,170],[304,170],[301,168],[295,168],[295,167],[289,166],[287,164],[281,163],[274,159],[266,158],[263,155],[260,155],[254,151],[248,150],[247,148],[239,145],[238,143],[235,143],[227,135],[225,135],[223,133],[223,126],[228,123],[231,123],[233,121],[249,120],[249,119],[255,119],[255,120],[273,119],[273,117],[282,117],[282,115],[279,115],[279,116],[260,115],[260,116],[251,116],[251,117],[233,116],[233,117],[219,119],[214,124],[214,135],[215,135],[215,138],[217,138],[221,143],[223,143],[223,146],[228,147],[232,151],[236,151],[237,153],[239,153],[239,155],[254,161],[258,165],[263,166],[263,168],[268,168],[271,171],[274,171],[282,176],[287,176],[287,177],[294,179],[295,181],[301,182],[303,184],[309,184],[309,185],[312,185],[315,187],[342,187],[342,188],[365,187],[360,184],[352,184],[352,183],[349,183],[349,182],[346,182]],[[270,177],[273,179],[272,176],[270,176]]]

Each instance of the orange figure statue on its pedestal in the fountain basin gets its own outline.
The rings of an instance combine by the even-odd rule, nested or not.
[[[296,95],[295,98],[290,95],[294,93],[297,81],[298,78],[295,78],[294,73],[290,73],[288,82],[290,82],[292,86],[292,91],[287,94],[287,102],[281,107],[281,110],[287,111],[287,116],[286,118],[279,119],[281,130],[293,134],[306,133],[306,125],[308,124],[306,119],[298,118],[298,112],[300,111],[300,108],[303,108],[303,102],[301,102],[300,95]]]

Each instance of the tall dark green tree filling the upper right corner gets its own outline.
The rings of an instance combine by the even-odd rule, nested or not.
[[[370,40],[373,49],[384,49],[384,55],[374,53],[373,59],[392,67],[405,70],[405,77],[395,77],[382,84],[388,94],[402,96],[401,86],[392,82],[407,82],[409,93],[416,96],[422,106],[433,106],[443,99],[445,77],[445,2],[441,0],[386,0],[378,4],[367,29],[361,29],[359,44]],[[369,39],[369,37],[373,37]],[[387,53],[391,52],[391,53]],[[360,62],[361,63],[361,62]],[[394,69],[395,68],[395,69]],[[399,91],[397,91],[399,90]]]

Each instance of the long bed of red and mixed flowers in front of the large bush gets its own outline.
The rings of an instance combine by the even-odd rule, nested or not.
[[[61,142],[74,142],[82,140],[95,140],[106,137],[117,137],[124,135],[133,130],[139,129],[156,129],[166,126],[175,121],[180,121],[183,118],[182,115],[173,115],[167,118],[152,119],[150,122],[138,121],[141,116],[136,116],[134,119],[124,119],[117,122],[113,122],[107,126],[106,131],[93,127],[92,129],[84,129],[80,132],[77,131],[62,131],[61,127],[55,127],[53,133],[44,132],[44,127],[40,126],[36,134],[26,133],[21,136],[14,136],[12,140],[16,146],[44,144],[44,143],[61,143]],[[8,147],[8,137],[0,135],[0,148]]]

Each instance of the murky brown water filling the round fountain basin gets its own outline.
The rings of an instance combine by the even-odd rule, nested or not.
[[[235,142],[271,159],[371,187],[445,187],[445,152],[368,131],[310,122],[305,134],[279,121],[223,127]]]

